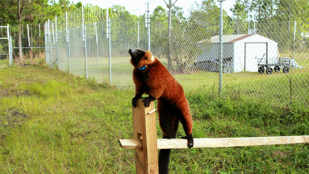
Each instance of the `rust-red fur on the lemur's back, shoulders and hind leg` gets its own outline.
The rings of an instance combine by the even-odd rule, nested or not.
[[[145,89],[144,93],[153,96],[155,99],[169,101],[171,104],[175,104],[176,108],[184,115],[186,120],[188,131],[186,134],[192,134],[192,117],[189,108],[189,103],[184,95],[184,90],[181,85],[176,81],[173,75],[167,70],[167,68],[156,58],[153,57],[148,50],[145,52],[145,56],[142,58],[138,67],[144,65],[147,66],[146,70],[138,70],[136,67],[133,70],[133,81],[135,83],[135,93]],[[136,74],[146,73],[148,75],[145,79],[146,84],[141,80],[141,77]],[[148,87],[146,89],[145,85]],[[158,101],[158,112],[161,108],[161,102]],[[176,117],[176,116],[175,116]],[[159,115],[160,119],[160,115]],[[161,124],[160,124],[161,125]],[[161,126],[162,129],[162,126]],[[162,129],[164,135],[168,136]]]

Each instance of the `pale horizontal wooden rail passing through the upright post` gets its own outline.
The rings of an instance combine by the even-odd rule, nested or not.
[[[286,137],[248,137],[248,138],[194,138],[193,148],[202,147],[234,147],[234,146],[262,146],[275,144],[308,143],[309,135]],[[120,139],[119,144],[123,148],[141,149],[142,140]],[[157,139],[158,149],[188,148],[185,139]]]

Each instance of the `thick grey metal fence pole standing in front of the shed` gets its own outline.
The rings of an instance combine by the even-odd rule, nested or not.
[[[219,96],[222,97],[222,0],[220,0],[220,14],[219,14]]]

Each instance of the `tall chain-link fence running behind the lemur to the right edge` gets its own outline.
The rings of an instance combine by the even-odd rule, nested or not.
[[[213,0],[177,1],[170,8],[170,24],[169,5],[162,0],[149,3],[153,10],[146,4],[132,12],[88,4],[45,23],[46,62],[99,82],[133,87],[128,49],[147,50],[150,41],[152,53],[185,90],[307,105],[308,2],[222,2],[222,56],[220,8]]]

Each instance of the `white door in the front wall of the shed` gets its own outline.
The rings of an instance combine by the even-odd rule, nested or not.
[[[267,53],[267,43],[245,43],[245,71],[256,72],[258,70],[256,58],[262,58],[264,53]]]

